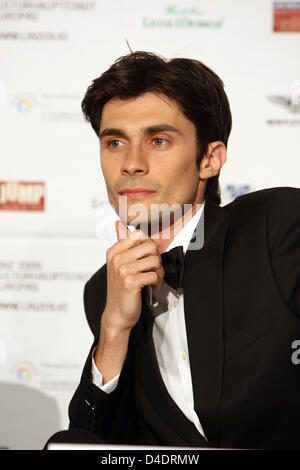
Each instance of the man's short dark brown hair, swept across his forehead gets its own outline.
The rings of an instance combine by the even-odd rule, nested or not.
[[[177,102],[197,131],[197,164],[210,142],[227,146],[231,112],[222,80],[193,59],[165,58],[137,51],[120,57],[88,87],[82,101],[86,119],[99,135],[103,107],[112,98],[129,99],[146,92],[160,93]],[[205,197],[221,202],[219,175],[209,178]]]

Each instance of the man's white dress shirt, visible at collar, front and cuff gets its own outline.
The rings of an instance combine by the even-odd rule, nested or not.
[[[184,253],[186,252],[203,208],[204,204],[178,232],[166,251],[181,245]],[[150,286],[148,290],[149,296],[146,302],[154,317],[153,343],[162,379],[174,402],[205,437],[199,418],[194,410],[183,289],[174,290],[163,281],[158,290],[153,291]],[[120,374],[102,385],[102,375],[93,359],[92,375],[93,383],[104,392],[110,393],[116,388]]]

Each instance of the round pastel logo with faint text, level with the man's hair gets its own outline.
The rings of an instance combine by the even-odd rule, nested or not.
[[[80,108],[81,98],[79,94],[70,92],[41,92],[39,95],[18,92],[13,95],[11,105],[18,114],[38,115],[44,122],[84,122]]]

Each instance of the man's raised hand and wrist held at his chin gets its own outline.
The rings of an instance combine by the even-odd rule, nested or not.
[[[102,327],[131,330],[139,319],[142,288],[158,289],[165,275],[157,245],[141,230],[116,222],[118,242],[106,252],[107,298]]]

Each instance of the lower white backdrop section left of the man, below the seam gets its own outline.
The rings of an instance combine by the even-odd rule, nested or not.
[[[1,239],[0,447],[39,449],[67,428],[93,341],[83,287],[106,249],[97,239]]]

